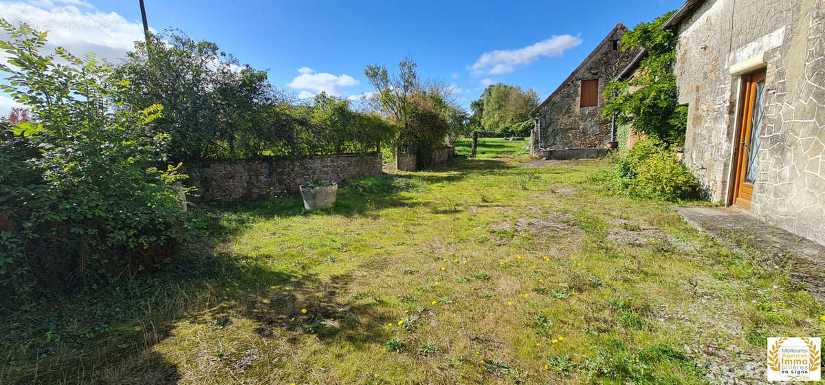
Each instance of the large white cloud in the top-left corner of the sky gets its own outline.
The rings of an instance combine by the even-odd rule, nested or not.
[[[144,38],[140,21],[128,21],[115,12],[101,12],[82,0],[39,0],[0,2],[2,17],[15,24],[23,21],[32,28],[49,31],[49,51],[62,46],[82,56],[94,52],[109,60],[122,58]],[[0,32],[0,39],[8,35]]]

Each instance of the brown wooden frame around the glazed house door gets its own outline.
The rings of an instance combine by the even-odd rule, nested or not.
[[[742,73],[738,76],[738,98],[737,98],[737,106],[736,106],[736,115],[734,115],[734,129],[733,129],[733,139],[731,140],[731,157],[729,163],[729,173],[728,173],[728,194],[725,200],[726,206],[736,205],[737,193],[738,193],[738,186],[740,183],[740,179],[743,180],[744,175],[743,173],[747,173],[747,165],[745,167],[741,167],[740,164],[742,162],[739,154],[739,140],[740,136],[742,135],[742,129],[748,124],[748,120],[753,119],[753,110],[749,110],[749,116],[745,116],[745,112],[747,109],[751,108],[752,106],[746,106],[747,104],[747,91],[749,87],[749,80],[750,77],[762,74],[762,82],[767,82],[767,73],[766,68],[756,68],[753,71],[748,73]],[[767,84],[765,85],[765,90],[763,92],[767,92]],[[756,99],[754,99],[754,104],[756,103]],[[765,106],[763,105],[762,108],[764,109]],[[760,128],[761,129],[761,128]],[[746,141],[749,141],[749,138],[744,138]],[[747,148],[742,151],[742,157],[747,158]],[[740,173],[741,172],[741,173]],[[749,202],[750,203],[750,202]],[[748,207],[742,207],[741,205],[737,205],[737,207],[741,209],[748,210],[750,209],[750,204]]]

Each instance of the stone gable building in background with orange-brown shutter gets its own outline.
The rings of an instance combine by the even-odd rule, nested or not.
[[[535,120],[530,153],[548,149],[605,148],[615,141],[615,124],[601,116],[607,82],[634,59],[638,51],[619,47],[627,27],[618,23],[587,55],[559,88],[530,112]],[[585,151],[582,153],[606,153]]]

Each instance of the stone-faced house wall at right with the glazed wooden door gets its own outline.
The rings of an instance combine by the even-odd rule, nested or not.
[[[706,193],[825,244],[825,2],[688,0],[664,27]]]

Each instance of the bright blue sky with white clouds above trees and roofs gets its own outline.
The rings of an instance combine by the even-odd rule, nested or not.
[[[464,106],[488,82],[535,88],[544,98],[616,22],[632,28],[681,6],[681,0],[145,2],[153,30],[178,28],[214,41],[242,63],[268,69],[272,84],[296,95],[370,92],[365,64],[393,66],[409,54],[422,77],[455,84]],[[114,59],[140,38],[138,0],[0,1],[0,9],[2,17],[50,29],[55,44],[78,54],[95,50]]]

